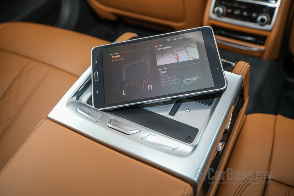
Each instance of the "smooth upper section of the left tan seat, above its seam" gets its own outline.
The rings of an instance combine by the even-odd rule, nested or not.
[[[0,50],[80,76],[91,65],[91,49],[110,43],[95,37],[28,22],[0,24]]]

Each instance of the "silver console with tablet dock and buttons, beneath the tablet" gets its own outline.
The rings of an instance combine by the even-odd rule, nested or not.
[[[189,182],[195,194],[206,194],[214,179],[199,171],[219,170],[235,123],[243,119],[243,77],[227,71],[225,77],[227,88],[220,93],[99,111],[92,107],[89,67],[48,119]]]

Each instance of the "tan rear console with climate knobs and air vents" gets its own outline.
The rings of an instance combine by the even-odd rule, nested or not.
[[[263,59],[279,55],[291,0],[210,0],[204,25],[218,47]]]

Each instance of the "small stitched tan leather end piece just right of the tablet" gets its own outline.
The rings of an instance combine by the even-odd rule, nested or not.
[[[249,78],[250,78],[250,65],[247,62],[239,61],[233,72],[234,74],[238,74],[243,77],[243,96],[244,100],[248,99],[248,90],[249,90]]]

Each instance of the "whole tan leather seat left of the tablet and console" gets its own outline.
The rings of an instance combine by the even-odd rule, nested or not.
[[[109,42],[31,23],[0,25],[0,170]]]

